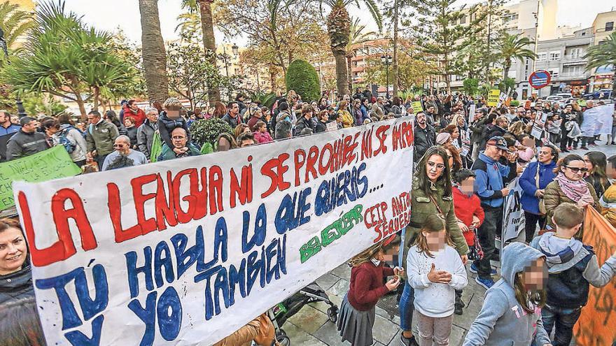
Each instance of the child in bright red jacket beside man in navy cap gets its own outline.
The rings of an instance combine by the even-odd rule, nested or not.
[[[470,169],[461,169],[454,176],[454,186],[451,189],[454,195],[454,212],[458,217],[458,226],[462,231],[466,245],[475,246],[475,229],[484,222],[484,210],[481,207],[479,196],[475,194],[475,172]],[[456,305],[454,313],[462,315],[464,303],[462,290],[456,290]]]

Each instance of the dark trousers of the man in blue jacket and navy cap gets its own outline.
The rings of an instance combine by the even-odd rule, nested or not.
[[[490,272],[492,267],[490,259],[494,257],[496,252],[496,231],[500,232],[503,229],[503,207],[482,207],[486,217],[484,223],[479,226],[477,238],[479,238],[479,244],[482,245],[482,250],[484,250],[484,258],[474,263],[477,267],[477,276],[480,279],[491,280]]]

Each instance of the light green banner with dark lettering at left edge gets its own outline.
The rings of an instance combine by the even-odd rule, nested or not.
[[[11,183],[15,180],[44,182],[81,173],[62,145],[28,157],[0,164],[0,210],[15,206]]]

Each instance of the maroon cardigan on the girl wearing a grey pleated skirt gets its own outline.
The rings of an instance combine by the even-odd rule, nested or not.
[[[389,290],[383,284],[386,276],[393,275],[393,269],[379,264],[374,266],[372,261],[367,261],[360,266],[351,269],[351,284],[346,298],[353,308],[359,311],[367,311],[377,305],[379,298]]]

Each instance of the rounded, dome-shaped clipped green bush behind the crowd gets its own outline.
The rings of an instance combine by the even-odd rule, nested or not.
[[[321,86],[314,67],[305,60],[297,59],[286,70],[286,89],[295,90],[302,101],[317,101],[321,96]]]

